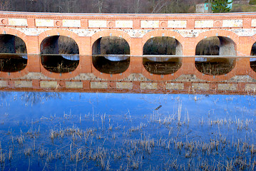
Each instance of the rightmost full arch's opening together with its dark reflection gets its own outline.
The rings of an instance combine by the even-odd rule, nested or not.
[[[221,76],[230,73],[235,67],[235,42],[231,38],[213,36],[204,38],[195,49],[196,56],[228,56],[229,58],[195,58],[195,68],[209,76]]]

